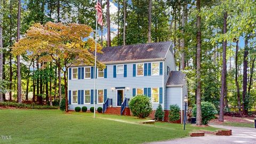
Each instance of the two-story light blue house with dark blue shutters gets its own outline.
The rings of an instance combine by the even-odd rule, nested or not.
[[[102,52],[97,58],[106,68],[96,71],[97,108],[104,107],[105,113],[123,114],[129,99],[145,94],[151,99],[153,110],[162,105],[166,121],[170,105],[177,104],[182,113],[187,85],[185,74],[176,71],[171,42],[106,47]],[[93,66],[69,68],[70,110],[93,107],[94,73]]]

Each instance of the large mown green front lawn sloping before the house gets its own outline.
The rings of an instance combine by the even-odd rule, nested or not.
[[[195,127],[157,122],[139,124],[145,119],[92,113],[65,114],[60,110],[0,110],[0,135],[11,140],[0,143],[143,143],[183,138],[196,130],[215,131],[214,127]]]

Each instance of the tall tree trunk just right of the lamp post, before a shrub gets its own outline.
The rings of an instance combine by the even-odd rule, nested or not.
[[[196,50],[196,79],[197,79],[197,88],[196,88],[196,125],[202,125],[202,114],[201,114],[201,16],[200,13],[200,0],[196,1],[196,9],[198,11],[196,15],[196,41],[197,41],[197,50]]]

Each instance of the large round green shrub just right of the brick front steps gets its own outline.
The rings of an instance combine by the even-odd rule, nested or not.
[[[134,116],[145,118],[152,112],[150,99],[145,95],[137,95],[129,102],[129,108]]]

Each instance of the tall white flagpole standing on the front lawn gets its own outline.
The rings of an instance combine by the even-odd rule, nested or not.
[[[97,0],[97,3],[96,3],[96,5],[98,5],[98,0]],[[96,67],[96,60],[97,60],[97,29],[98,29],[98,15],[97,15],[97,13],[98,13],[98,7],[97,7],[97,9],[96,9],[96,30],[95,30],[95,56],[94,56],[94,102],[93,102],[93,105],[94,105],[94,118],[96,118],[95,117],[95,109],[96,109],[96,107],[95,107],[95,103],[96,103],[96,93],[97,93],[97,91],[96,91],[96,70],[97,70],[97,67]]]

